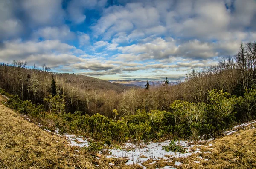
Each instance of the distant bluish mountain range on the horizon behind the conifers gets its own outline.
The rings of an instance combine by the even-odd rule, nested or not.
[[[137,80],[137,79],[133,79],[133,80],[109,80],[111,83],[119,83],[125,86],[140,86],[140,87],[144,87],[146,81],[142,81],[142,80]],[[149,84],[152,86],[156,86],[156,85],[161,85],[163,84],[163,82],[161,81],[149,81]],[[169,84],[172,85],[176,85],[176,82],[169,82]]]

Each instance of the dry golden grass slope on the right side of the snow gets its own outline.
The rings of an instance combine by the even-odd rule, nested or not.
[[[180,159],[181,168],[191,169],[253,169],[256,168],[256,128],[255,125],[232,135],[213,140],[212,148],[202,146],[201,151],[211,154],[192,155]],[[198,158],[201,156],[204,159]],[[200,161],[200,163],[195,163]]]

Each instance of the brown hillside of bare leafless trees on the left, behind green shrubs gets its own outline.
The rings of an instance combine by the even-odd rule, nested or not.
[[[108,115],[117,109],[116,99],[110,102],[110,98],[129,89],[122,84],[81,74],[54,73],[49,72],[49,68],[29,69],[23,61],[17,61],[15,66],[0,64],[0,87],[18,95],[21,100],[44,103],[44,99],[52,95],[52,80],[55,93],[64,99],[66,112],[79,110],[89,115],[99,112]]]

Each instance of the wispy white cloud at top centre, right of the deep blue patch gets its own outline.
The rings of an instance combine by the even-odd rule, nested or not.
[[[109,39],[118,32],[131,32],[132,29],[151,28],[160,24],[156,8],[142,3],[128,3],[125,7],[112,6],[105,10],[97,24],[92,27],[95,33],[104,34]]]

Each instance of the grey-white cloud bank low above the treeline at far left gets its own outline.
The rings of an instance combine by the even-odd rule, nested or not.
[[[0,50],[0,62],[12,63],[12,60],[26,60],[29,64],[43,64],[57,67],[77,63],[80,59],[73,55],[75,46],[61,43],[58,40],[41,42],[21,40],[4,41]]]

